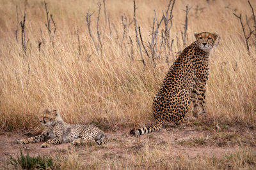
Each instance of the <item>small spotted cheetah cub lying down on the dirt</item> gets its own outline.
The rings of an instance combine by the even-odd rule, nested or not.
[[[73,145],[91,141],[97,145],[106,143],[106,135],[94,125],[67,124],[60,117],[60,110],[47,109],[42,113],[40,122],[45,129],[42,134],[28,139],[21,139],[20,143],[36,143],[46,141],[42,148],[52,145],[72,142]]]

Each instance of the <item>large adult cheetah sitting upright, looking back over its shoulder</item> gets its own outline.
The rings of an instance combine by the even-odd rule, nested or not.
[[[190,102],[193,116],[205,114],[205,85],[209,75],[209,53],[218,34],[195,32],[196,41],[186,47],[166,74],[159,92],[153,101],[156,125],[133,129],[131,135],[139,136],[163,127],[164,122],[179,124],[184,120]]]

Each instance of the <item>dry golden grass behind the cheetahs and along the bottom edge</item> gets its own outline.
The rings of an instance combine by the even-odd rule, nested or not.
[[[146,45],[152,37],[154,10],[156,10],[157,19],[160,20],[168,2],[136,1],[138,7],[136,20],[141,27]],[[210,75],[206,92],[207,117],[204,120],[199,119],[199,123],[209,127],[219,124],[246,129],[256,128],[256,42],[253,35],[248,39],[251,53],[249,56],[241,24],[233,15],[233,12],[237,15],[243,13],[244,24],[246,23],[245,15],[247,15],[248,22],[253,28],[252,11],[247,1],[175,1],[172,13],[173,25],[170,30],[170,39],[173,39],[172,53],[168,56],[170,64],[165,60],[164,48],[160,48],[162,24],[157,39],[156,53],[159,57],[155,61],[156,66],[152,64],[152,60],[147,57],[142,48],[145,67],[140,61],[133,22],[127,28],[127,34],[123,38],[122,15],[127,17],[128,23],[133,20],[133,1],[107,0],[106,14],[110,24],[108,19],[105,20],[104,6],[100,1],[102,4],[99,17],[101,49],[97,38],[99,11],[97,3],[98,1],[92,0],[47,1],[48,11],[56,22],[56,34],[52,39],[45,27],[47,18],[44,1],[28,1],[25,55],[22,50],[20,27],[25,1],[0,0],[1,132],[40,131],[38,117],[48,107],[60,109],[63,120],[68,123],[93,123],[113,133],[118,129],[131,129],[152,124],[154,122],[152,99],[159,90],[173,60],[184,48],[180,31],[184,31],[186,4],[193,6],[188,14],[186,45],[195,41],[194,32],[218,32],[221,38],[219,45],[212,49],[210,57]],[[256,1],[251,3],[253,8],[256,8]],[[85,16],[89,8],[90,13],[95,11],[92,15],[91,32],[96,46],[90,37],[86,23]],[[15,39],[16,30],[17,40]],[[54,25],[51,22],[51,36],[53,31]],[[80,42],[77,40],[77,31]],[[248,32],[246,27],[246,35]],[[40,50],[38,43],[42,43]],[[129,168],[148,169],[150,166],[147,167],[145,164],[153,165],[154,157],[161,160],[165,157],[164,155],[171,154],[171,150],[164,148],[154,148],[148,152],[147,147],[143,152],[131,155],[132,165],[138,165],[136,162],[138,160],[135,158],[141,158],[141,164]],[[238,152],[252,156],[251,151],[249,153],[248,150]],[[170,161],[175,162],[173,166],[166,166],[165,163],[158,164],[159,160],[157,160],[158,163],[155,164],[157,166],[151,168],[195,169],[198,167],[199,164],[189,162],[188,155],[180,154],[179,157],[184,160],[185,166],[181,166],[183,163],[177,162],[178,160],[172,156],[173,159]],[[143,159],[146,155],[147,160]],[[248,162],[237,163],[241,161],[241,157],[239,158],[230,160],[233,163],[236,162],[235,169],[247,168],[248,165],[250,167]],[[197,161],[200,162],[200,159],[203,158],[200,157]],[[252,160],[256,161],[255,157]],[[104,161],[102,160],[105,164],[107,160]],[[216,166],[212,159],[205,161],[200,163],[202,169],[204,167],[225,169],[223,166]],[[255,164],[256,162],[252,165],[255,166]],[[127,166],[128,163],[116,163],[107,167],[119,169],[125,168],[125,165]],[[86,166],[86,168],[90,167]],[[92,168],[97,169],[100,166],[92,166]]]

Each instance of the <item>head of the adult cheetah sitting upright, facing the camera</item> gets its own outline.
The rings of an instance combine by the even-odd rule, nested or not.
[[[204,52],[211,52],[211,49],[218,38],[218,33],[210,33],[210,32],[195,32],[196,44],[198,48],[203,50]]]

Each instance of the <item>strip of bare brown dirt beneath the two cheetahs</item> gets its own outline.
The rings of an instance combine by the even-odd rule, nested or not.
[[[68,150],[79,152],[79,157],[90,158],[95,152],[99,157],[129,157],[131,152],[140,152],[146,145],[149,148],[154,146],[168,146],[173,155],[183,153],[189,157],[224,157],[228,153],[236,152],[237,148],[247,148],[256,153],[256,136],[253,130],[228,129],[216,131],[214,129],[202,129],[202,127],[164,127],[163,130],[146,134],[135,138],[128,135],[129,129],[122,129],[118,132],[106,133],[108,143],[104,146],[74,146],[69,143],[41,148],[42,143],[31,143],[21,145],[15,143],[15,139],[28,138],[29,135],[22,135],[11,132],[1,132],[0,135],[0,161],[6,161],[10,155],[16,157],[23,153],[30,156],[68,154]],[[31,134],[30,134],[31,136]],[[83,148],[83,149],[81,149]],[[83,152],[81,152],[83,150]],[[97,154],[99,153],[99,154]],[[94,154],[94,155],[95,155]]]

